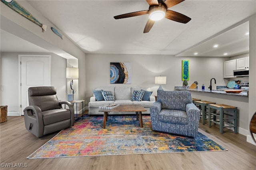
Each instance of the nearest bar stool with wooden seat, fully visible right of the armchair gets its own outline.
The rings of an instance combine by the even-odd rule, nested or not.
[[[210,109],[216,110],[216,112],[211,112]],[[219,112],[218,112],[219,111]],[[224,111],[233,111],[234,114],[232,113],[224,113]],[[229,106],[229,105],[224,105],[224,104],[209,104],[209,110],[208,110],[208,115],[209,117],[216,116],[219,117],[219,120],[212,120],[208,119],[209,122],[209,127],[211,127],[212,122],[220,125],[220,133],[223,133],[223,128],[224,127],[233,127],[234,132],[237,133],[237,107],[234,106]],[[225,117],[224,117],[225,116]],[[229,121],[232,119],[232,122]],[[228,125],[225,125],[228,124]]]

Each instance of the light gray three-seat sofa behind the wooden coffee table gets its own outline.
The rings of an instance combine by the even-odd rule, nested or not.
[[[149,96],[149,101],[132,101],[132,93],[134,90],[145,90],[150,91],[150,88],[148,87],[115,87],[115,86],[104,86],[104,87],[97,87],[94,89],[95,91],[111,91],[114,95],[114,101],[96,101],[95,95],[90,97],[90,102],[88,104],[89,106],[89,115],[103,115],[103,112],[99,112],[99,107],[108,103],[116,103],[120,105],[142,105],[147,111],[142,112],[142,114],[150,114],[150,106],[156,101],[154,96]],[[146,97],[146,93],[144,94],[144,97]],[[111,112],[110,115],[116,115],[116,114],[124,114],[124,112]],[[125,114],[135,114],[135,112],[125,112]]]

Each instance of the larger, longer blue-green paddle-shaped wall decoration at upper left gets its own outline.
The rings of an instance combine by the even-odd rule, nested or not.
[[[28,20],[34,22],[36,25],[42,28],[42,32],[46,31],[46,25],[41,24],[34,16],[32,16],[25,8],[23,8],[18,2],[15,0],[1,0],[4,4],[10,7],[12,10],[17,12],[18,14],[24,16]]]

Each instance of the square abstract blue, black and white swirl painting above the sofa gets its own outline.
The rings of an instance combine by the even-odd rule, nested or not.
[[[131,84],[131,63],[110,63],[110,84]]]

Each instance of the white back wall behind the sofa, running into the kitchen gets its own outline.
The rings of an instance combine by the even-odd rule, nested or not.
[[[191,85],[198,81],[206,88],[210,79],[216,79],[216,85],[226,85],[223,79],[223,62],[228,60],[222,57],[174,57],[173,55],[118,55],[118,54],[86,54],[86,104],[93,95],[92,90],[99,86],[146,86],[156,95],[159,85],[154,84],[155,76],[166,76],[164,90],[174,90],[174,86],[182,86],[182,60],[190,61]],[[110,62],[132,63],[131,84],[110,84]],[[213,84],[213,88],[216,88]]]

